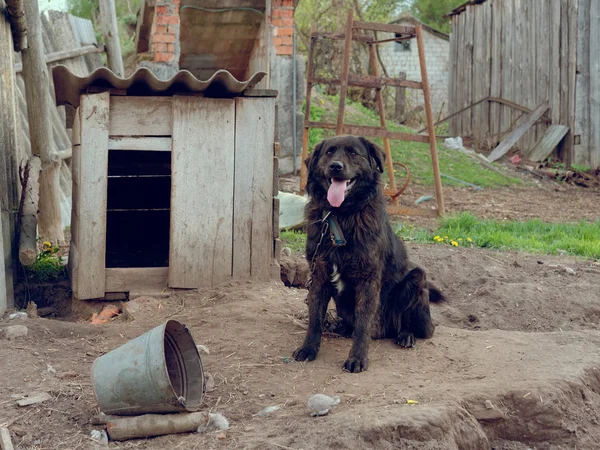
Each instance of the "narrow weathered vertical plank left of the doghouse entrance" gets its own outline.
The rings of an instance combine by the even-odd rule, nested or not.
[[[106,279],[106,202],[108,172],[108,126],[110,94],[87,94],[81,98],[81,184],[78,202],[78,276],[76,298],[104,297]],[[75,196],[74,196],[75,197]]]

